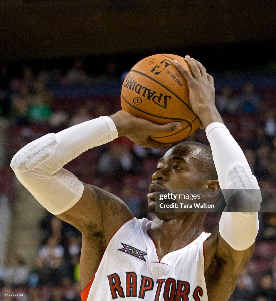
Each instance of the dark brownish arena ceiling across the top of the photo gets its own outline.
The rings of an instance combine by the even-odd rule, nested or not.
[[[275,42],[274,0],[2,0],[0,60]]]

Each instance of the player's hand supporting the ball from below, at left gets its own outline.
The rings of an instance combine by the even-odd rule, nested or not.
[[[143,147],[166,148],[172,146],[172,143],[161,143],[150,139],[159,133],[170,133],[176,129],[182,128],[182,123],[170,122],[163,125],[152,123],[148,120],[136,118],[125,111],[118,111],[109,116],[118,131],[118,137],[127,136],[131,141]]]

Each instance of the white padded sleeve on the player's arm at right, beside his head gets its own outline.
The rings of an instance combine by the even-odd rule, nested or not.
[[[226,202],[231,196],[230,189],[232,191],[256,189],[253,201],[256,202],[254,206],[259,210],[261,193],[258,182],[252,175],[243,151],[226,126],[219,122],[210,123],[206,127],[206,135],[212,149],[219,185]],[[247,199],[252,201],[251,196]],[[221,237],[238,251],[246,250],[254,243],[258,230],[259,220],[256,212],[223,212],[219,221]]]

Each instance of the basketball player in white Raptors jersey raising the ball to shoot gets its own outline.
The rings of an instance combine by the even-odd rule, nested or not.
[[[201,188],[207,194],[216,194],[219,187],[259,189],[216,110],[212,76],[198,61],[185,59],[193,76],[178,62],[173,64],[187,80],[192,108],[212,152],[197,142],[182,142],[167,151],[149,186],[151,212],[158,189]],[[140,220],[118,197],[62,168],[82,152],[123,135],[144,147],[167,147],[149,136],[180,127],[119,111],[47,134],[14,156],[11,167],[19,181],[48,211],[82,233],[83,301],[226,301],[231,296],[254,250],[257,213],[222,213],[213,234],[201,230],[206,213],[156,213],[152,222]]]

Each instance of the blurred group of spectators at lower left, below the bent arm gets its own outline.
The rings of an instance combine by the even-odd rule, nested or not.
[[[33,267],[17,255],[0,268],[2,292],[23,293],[19,300],[81,301],[80,250],[81,233],[49,214],[41,221],[41,247]]]

